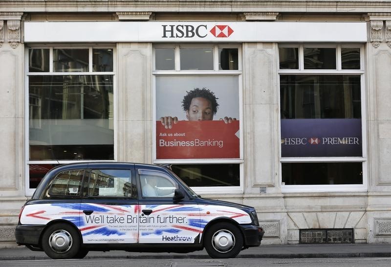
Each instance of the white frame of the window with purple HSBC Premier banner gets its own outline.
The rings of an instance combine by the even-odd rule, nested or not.
[[[281,156],[281,142],[279,144],[279,184],[282,193],[295,192],[342,192],[342,191],[367,191],[368,190],[368,159],[367,159],[367,125],[366,125],[366,84],[365,84],[365,57],[364,45],[358,43],[347,44],[278,44],[280,47],[297,47],[299,48],[299,69],[280,69],[280,57],[277,53],[278,66],[278,125],[279,125],[279,140],[281,140],[281,88],[280,75],[359,75],[360,76],[360,91],[361,91],[361,134],[362,134],[362,156],[361,157],[282,157]],[[336,48],[336,69],[322,70],[322,69],[304,69],[304,48]],[[359,48],[360,49],[360,69],[358,70],[343,70],[341,62],[341,48]],[[279,49],[277,49],[279,51]],[[343,185],[284,185],[282,184],[282,163],[316,163],[316,162],[361,162],[362,163],[362,184],[343,184]]]

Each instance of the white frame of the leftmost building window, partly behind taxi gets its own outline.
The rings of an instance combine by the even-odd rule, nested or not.
[[[88,48],[88,72],[53,72],[53,49],[87,49]],[[29,49],[49,49],[49,71],[48,72],[29,72]],[[113,52],[113,71],[112,72],[97,72],[93,71],[93,49],[112,49]],[[117,105],[117,49],[115,44],[27,44],[24,47],[24,110],[26,111],[25,117],[24,117],[24,128],[26,129],[24,134],[24,159],[25,159],[25,165],[24,165],[24,172],[25,172],[25,193],[26,196],[33,195],[35,188],[30,188],[30,175],[29,175],[29,166],[30,164],[68,164],[68,163],[75,163],[75,162],[90,162],[91,160],[30,160],[29,159],[29,76],[104,76],[104,75],[110,75],[113,77],[113,141],[114,141],[114,159],[113,160],[93,160],[94,162],[104,162],[104,161],[111,161],[115,162],[117,161],[118,152],[117,152],[117,117],[118,117],[118,105]]]

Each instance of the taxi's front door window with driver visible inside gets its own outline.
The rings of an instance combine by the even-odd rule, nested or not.
[[[174,179],[161,172],[139,170],[143,197],[173,197],[178,188]]]

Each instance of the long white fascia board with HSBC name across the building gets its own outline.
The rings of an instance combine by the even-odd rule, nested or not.
[[[34,42],[367,42],[366,22],[24,21]]]

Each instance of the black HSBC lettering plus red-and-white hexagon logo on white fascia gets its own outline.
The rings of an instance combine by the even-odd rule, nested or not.
[[[230,37],[234,30],[229,25],[214,25],[208,29],[208,25],[201,24],[198,26],[190,24],[179,25],[162,25],[162,38],[205,38],[212,34],[216,38]]]

